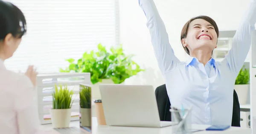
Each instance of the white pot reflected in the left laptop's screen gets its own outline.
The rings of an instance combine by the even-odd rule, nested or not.
[[[91,109],[84,109],[80,108],[81,119],[80,123],[81,126],[91,126]]]

